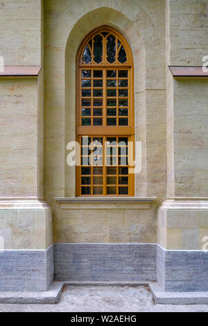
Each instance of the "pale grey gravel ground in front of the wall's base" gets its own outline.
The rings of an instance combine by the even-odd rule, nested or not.
[[[155,304],[145,286],[67,286],[58,304],[0,304],[0,312],[208,312],[206,304]]]

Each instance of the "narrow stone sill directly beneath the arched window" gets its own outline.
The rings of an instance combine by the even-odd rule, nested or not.
[[[149,209],[156,197],[55,197],[61,209]]]

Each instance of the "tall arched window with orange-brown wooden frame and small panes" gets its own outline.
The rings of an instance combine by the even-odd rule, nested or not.
[[[76,194],[134,196],[128,160],[135,135],[133,60],[123,35],[108,26],[89,33],[78,50],[76,76]]]

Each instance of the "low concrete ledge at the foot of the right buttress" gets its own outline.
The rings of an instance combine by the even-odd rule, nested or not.
[[[165,292],[157,282],[150,282],[157,304],[208,304],[208,292]]]

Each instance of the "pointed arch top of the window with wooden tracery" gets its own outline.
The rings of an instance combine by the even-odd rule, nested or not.
[[[78,49],[78,65],[132,66],[132,51],[125,37],[110,26],[90,32]]]

